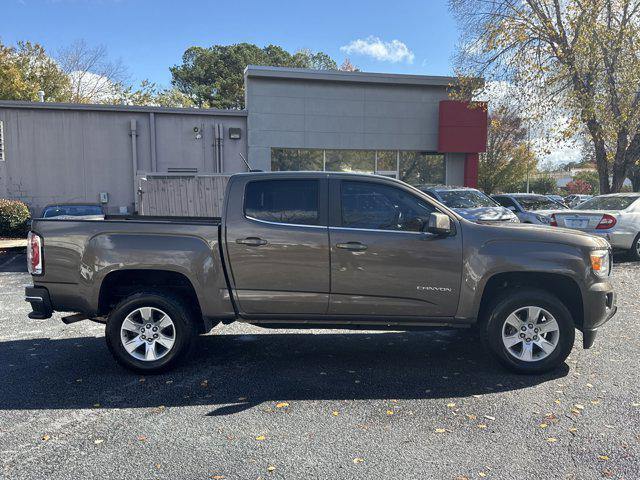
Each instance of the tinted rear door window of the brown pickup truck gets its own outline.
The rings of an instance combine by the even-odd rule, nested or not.
[[[244,214],[268,222],[318,225],[317,180],[257,180],[247,184]]]

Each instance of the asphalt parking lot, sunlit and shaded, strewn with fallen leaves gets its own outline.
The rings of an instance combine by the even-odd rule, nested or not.
[[[640,478],[640,264],[594,348],[538,377],[466,332],[240,324],[142,377],[101,325],[27,319],[23,266],[0,255],[1,477]]]

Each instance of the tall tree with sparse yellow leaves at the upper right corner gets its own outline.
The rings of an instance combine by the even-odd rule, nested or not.
[[[503,80],[560,107],[571,119],[564,133],[591,141],[600,191],[619,191],[640,158],[640,0],[450,4],[463,32],[462,78]]]

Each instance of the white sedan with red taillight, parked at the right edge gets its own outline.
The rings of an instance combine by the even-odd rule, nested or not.
[[[599,195],[572,210],[553,214],[552,225],[606,238],[640,260],[640,193]]]

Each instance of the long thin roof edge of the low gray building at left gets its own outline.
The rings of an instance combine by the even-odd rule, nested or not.
[[[246,117],[246,110],[222,110],[216,108],[172,108],[145,107],[137,105],[101,105],[93,103],[56,103],[56,102],[26,102],[18,100],[0,100],[0,108],[25,108],[42,110],[81,110],[96,112],[126,112],[126,113],[177,113],[187,115],[211,115]]]

